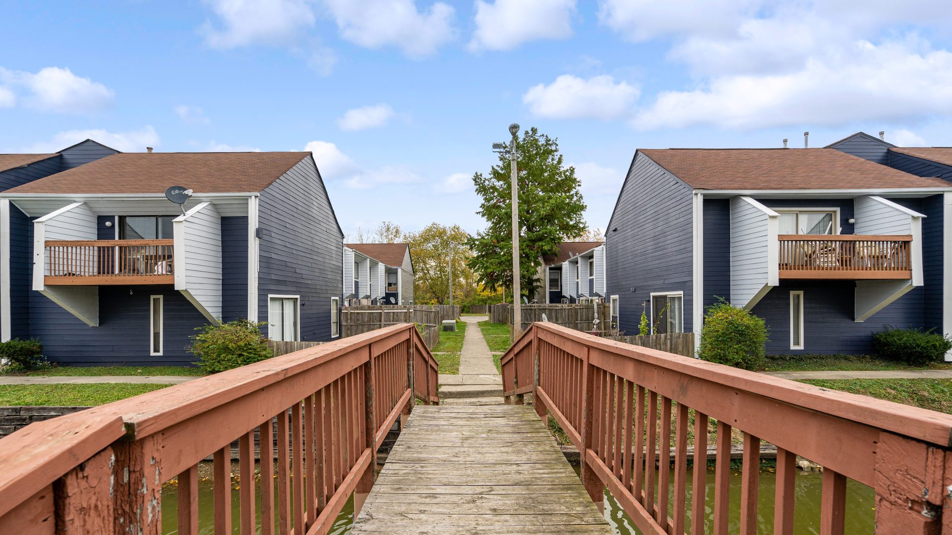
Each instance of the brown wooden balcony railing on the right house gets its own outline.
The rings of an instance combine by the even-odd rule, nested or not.
[[[912,236],[781,234],[781,279],[911,279]]]

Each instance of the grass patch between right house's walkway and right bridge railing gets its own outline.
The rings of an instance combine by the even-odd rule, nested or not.
[[[801,383],[952,414],[949,379],[813,379]]]

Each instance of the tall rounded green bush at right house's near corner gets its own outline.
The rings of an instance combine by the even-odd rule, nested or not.
[[[699,356],[705,361],[743,369],[764,362],[767,327],[762,318],[726,301],[707,307]]]

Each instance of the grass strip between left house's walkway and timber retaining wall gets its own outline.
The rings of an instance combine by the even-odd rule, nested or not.
[[[0,406],[96,406],[169,385],[0,385]]]

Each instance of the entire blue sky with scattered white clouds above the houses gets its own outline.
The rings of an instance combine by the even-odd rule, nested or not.
[[[483,227],[511,122],[604,228],[635,149],[952,145],[952,8],[885,0],[0,3],[0,151],[315,151],[346,232]]]

